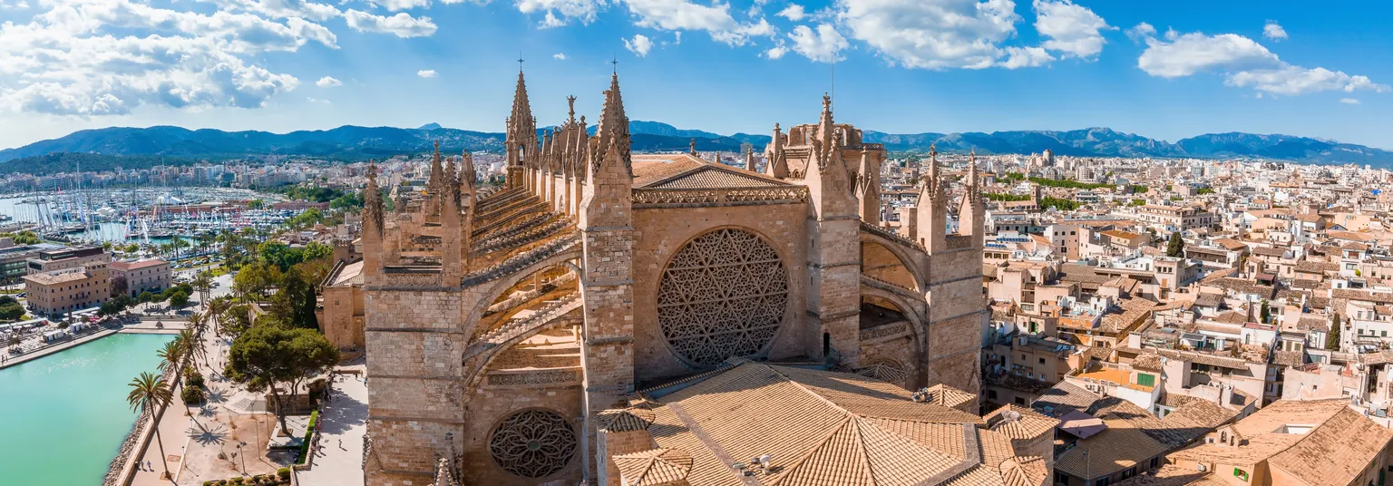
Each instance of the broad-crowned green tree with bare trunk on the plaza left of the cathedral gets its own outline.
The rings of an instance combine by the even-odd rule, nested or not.
[[[336,363],[338,348],[318,331],[258,324],[233,341],[227,376],[254,393],[269,390],[280,429],[288,432],[286,400],[281,400],[279,386],[284,384],[294,394],[306,379],[327,372]]]

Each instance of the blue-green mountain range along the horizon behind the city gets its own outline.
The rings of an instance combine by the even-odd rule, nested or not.
[[[593,127],[592,127],[593,130]],[[687,150],[692,139],[698,150],[738,152],[742,143],[762,149],[769,135],[720,135],[683,130],[657,121],[631,121],[634,150]],[[886,134],[864,131],[865,142],[885,143],[892,152],[983,155],[1041,153],[1085,157],[1250,157],[1319,164],[1372,164],[1393,167],[1393,152],[1353,143],[1339,143],[1291,135],[1255,135],[1243,132],[1205,134],[1174,143],[1110,128],[1071,131],[1000,131],[964,134]],[[241,159],[248,156],[309,156],[341,160],[382,159],[401,153],[429,150],[440,141],[442,150],[503,150],[504,135],[443,128],[426,124],[419,128],[344,125],[323,131],[272,134],[263,131],[227,132],[221,130],[187,130],[180,127],[99,128],[67,136],[0,150],[0,173],[49,173],[45,160],[56,153],[100,156],[169,157],[173,160]],[[46,157],[47,156],[47,157]],[[32,159],[32,160],[29,160]],[[21,162],[20,166],[15,166]],[[95,167],[93,167],[95,168]]]

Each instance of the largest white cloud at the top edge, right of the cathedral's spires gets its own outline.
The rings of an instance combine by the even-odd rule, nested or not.
[[[837,0],[836,8],[853,39],[928,70],[995,65],[1021,19],[1011,0]]]

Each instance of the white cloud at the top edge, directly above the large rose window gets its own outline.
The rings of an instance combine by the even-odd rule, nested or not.
[[[759,19],[737,22],[730,17],[730,4],[702,6],[690,0],[625,0],[635,25],[659,31],[705,31],[712,39],[731,46],[742,46],[751,36],[775,35],[773,25]]]

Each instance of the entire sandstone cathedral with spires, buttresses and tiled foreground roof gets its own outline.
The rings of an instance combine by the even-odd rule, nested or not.
[[[368,485],[1045,485],[1057,422],[978,409],[975,162],[890,230],[826,96],[762,168],[632,153],[617,74],[595,135],[568,100],[539,131],[518,74],[501,187],[369,173]]]

